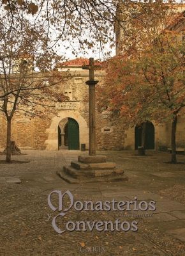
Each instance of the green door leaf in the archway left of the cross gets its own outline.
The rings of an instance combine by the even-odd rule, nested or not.
[[[79,145],[79,125],[73,118],[68,118],[68,148],[78,150]]]

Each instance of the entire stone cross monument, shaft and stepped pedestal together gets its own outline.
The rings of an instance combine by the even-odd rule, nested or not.
[[[78,161],[71,162],[70,166],[64,166],[58,175],[68,183],[83,182],[112,182],[128,180],[122,168],[116,168],[116,164],[107,162],[107,156],[96,155],[96,98],[94,80],[94,59],[89,59],[89,66],[82,67],[89,70],[89,80],[85,83],[89,86],[89,156],[78,156]]]

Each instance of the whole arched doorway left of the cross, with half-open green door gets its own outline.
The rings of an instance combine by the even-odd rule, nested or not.
[[[61,120],[58,126],[58,142],[59,149],[68,147],[70,150],[78,150],[80,148],[79,125],[75,119]]]

